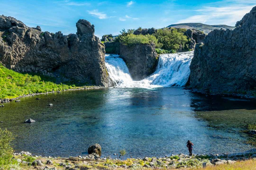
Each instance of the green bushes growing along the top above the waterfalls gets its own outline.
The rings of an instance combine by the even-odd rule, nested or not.
[[[142,28],[139,27],[138,30],[142,31]],[[134,29],[123,29],[120,31],[118,37],[116,37],[113,42],[120,42],[122,44],[132,46],[135,44],[150,44],[154,43],[156,45],[156,52],[158,54],[164,53],[173,53],[178,51],[188,51],[188,42],[189,38],[185,35],[186,29],[158,29],[156,33],[152,35],[134,35]],[[104,35],[102,40],[107,40],[109,35]],[[112,36],[112,35],[111,35]],[[108,46],[106,53],[115,53],[116,48]]]

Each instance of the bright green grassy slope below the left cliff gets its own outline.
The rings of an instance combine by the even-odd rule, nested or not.
[[[76,87],[71,84],[56,84],[52,77],[17,73],[0,64],[0,99],[71,88]]]

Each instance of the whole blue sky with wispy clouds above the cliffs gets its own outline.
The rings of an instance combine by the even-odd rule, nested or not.
[[[118,35],[125,29],[163,28],[170,24],[200,22],[234,26],[256,0],[0,0],[0,14],[29,27],[68,35],[76,22],[95,25],[95,35]]]

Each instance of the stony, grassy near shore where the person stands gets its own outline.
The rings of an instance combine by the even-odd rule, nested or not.
[[[206,163],[206,169],[253,169],[252,165],[256,164],[256,151],[248,153],[238,153],[232,155],[226,154],[208,154],[193,155],[192,157],[185,154],[171,155],[162,158],[128,158],[123,160],[117,159],[117,155],[101,158],[96,153],[87,156],[77,156],[69,158],[60,157],[41,157],[32,155],[29,152],[20,152],[14,154],[17,161],[13,169],[15,170],[88,170],[88,169],[200,169],[202,164]],[[13,170],[11,169],[11,170]]]

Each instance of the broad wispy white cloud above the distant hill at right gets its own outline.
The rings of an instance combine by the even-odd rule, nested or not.
[[[249,0],[250,1],[250,0]],[[235,26],[237,21],[240,21],[243,16],[250,12],[255,5],[233,4],[229,6],[212,7],[206,6],[198,10],[194,10],[196,15],[182,19],[178,23],[203,23],[203,24],[225,24]]]

